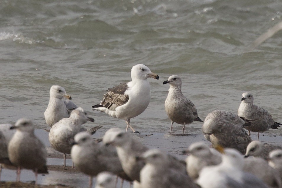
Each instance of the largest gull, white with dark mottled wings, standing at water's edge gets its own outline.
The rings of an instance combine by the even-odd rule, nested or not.
[[[108,89],[108,92],[103,95],[103,101],[92,106],[92,110],[124,119],[127,124],[126,131],[130,127],[135,132],[130,125],[130,119],[140,115],[150,103],[151,91],[147,80],[150,77],[159,79],[159,76],[145,65],[134,65],[131,69],[132,81]]]

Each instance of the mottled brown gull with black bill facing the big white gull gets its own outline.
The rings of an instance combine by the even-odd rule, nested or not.
[[[196,106],[187,99],[181,92],[181,78],[177,75],[168,77],[168,80],[163,84],[169,83],[168,95],[165,101],[165,110],[168,117],[171,119],[170,134],[174,122],[183,125],[183,132],[185,125],[193,123],[193,121],[202,121],[198,117]]]

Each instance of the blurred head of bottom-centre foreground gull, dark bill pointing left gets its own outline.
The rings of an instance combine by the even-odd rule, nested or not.
[[[136,160],[145,161],[145,163],[153,165],[162,165],[168,161],[168,155],[158,149],[150,149],[143,153],[142,156],[137,156]]]

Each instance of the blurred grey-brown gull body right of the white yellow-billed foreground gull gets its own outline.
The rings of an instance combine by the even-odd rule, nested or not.
[[[282,187],[279,173],[268,165],[267,161],[259,157],[248,157],[244,159],[244,172],[249,172],[264,181],[270,187]]]

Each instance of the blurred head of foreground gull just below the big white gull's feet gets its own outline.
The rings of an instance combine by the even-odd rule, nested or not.
[[[120,128],[111,128],[103,136],[104,145],[123,146],[129,143],[131,136]]]

